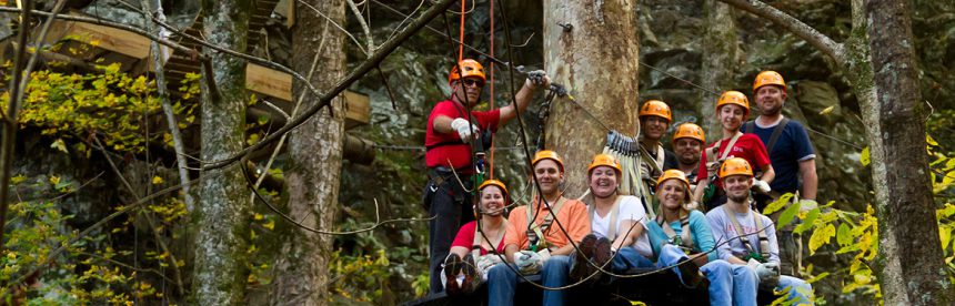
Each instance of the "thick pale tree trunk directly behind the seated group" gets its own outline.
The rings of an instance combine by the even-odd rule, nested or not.
[[[635,136],[637,29],[636,1],[544,1],[544,64],[585,108],[555,101],[547,122],[546,144],[564,157],[570,196],[586,190],[581,174],[609,132],[601,123]]]

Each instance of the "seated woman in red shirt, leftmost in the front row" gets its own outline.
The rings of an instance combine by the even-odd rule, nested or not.
[[[502,262],[504,232],[507,218],[509,194],[504,183],[487,180],[478,187],[478,221],[472,221],[458,231],[451,244],[451,254],[444,259],[441,283],[449,295],[469,294],[487,280],[487,271]],[[479,224],[480,222],[480,224]],[[489,252],[490,249],[490,252]]]

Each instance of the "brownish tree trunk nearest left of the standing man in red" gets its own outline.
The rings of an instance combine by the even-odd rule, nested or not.
[[[333,22],[345,21],[344,0],[304,1],[328,16]],[[300,12],[310,11],[299,3]],[[329,90],[344,78],[344,33],[328,20],[300,13],[293,29],[292,68],[319,90]],[[328,29],[326,29],[328,28]],[[318,52],[320,69],[310,73]],[[319,102],[301,82],[295,82],[296,95],[305,93],[300,108],[310,108]],[[339,177],[342,167],[342,141],[344,139],[343,99],[332,102],[334,116],[322,111],[299,129],[292,131],[289,141],[290,169],[289,215],[302,224],[331,230],[338,210]],[[275,265],[273,294],[275,303],[282,305],[323,305],[328,289],[329,256],[332,236],[319,235],[290,225],[283,234],[282,248]]]

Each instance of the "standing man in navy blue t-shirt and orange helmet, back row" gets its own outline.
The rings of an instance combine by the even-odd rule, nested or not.
[[[816,154],[806,129],[800,122],[783,116],[783,103],[786,102],[786,82],[783,75],[775,71],[760,72],[753,82],[753,99],[760,105],[761,113],[756,120],[743,125],[743,132],[756,134],[766,144],[770,161],[776,172],[770,187],[774,194],[798,191],[801,208],[816,207]],[[773,215],[773,218],[775,217],[776,215]],[[787,224],[780,231],[780,257],[783,273],[798,276],[802,241],[798,235],[794,236],[794,228],[795,224]]]

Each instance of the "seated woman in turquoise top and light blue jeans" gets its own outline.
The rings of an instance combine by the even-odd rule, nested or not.
[[[680,264],[673,271],[688,287],[696,287],[703,273],[710,282],[710,305],[756,305],[756,274],[746,266],[717,259],[706,216],[685,208],[690,202],[686,175],[678,170],[664,172],[656,183],[656,197],[660,215],[647,222],[647,232],[657,266]]]

